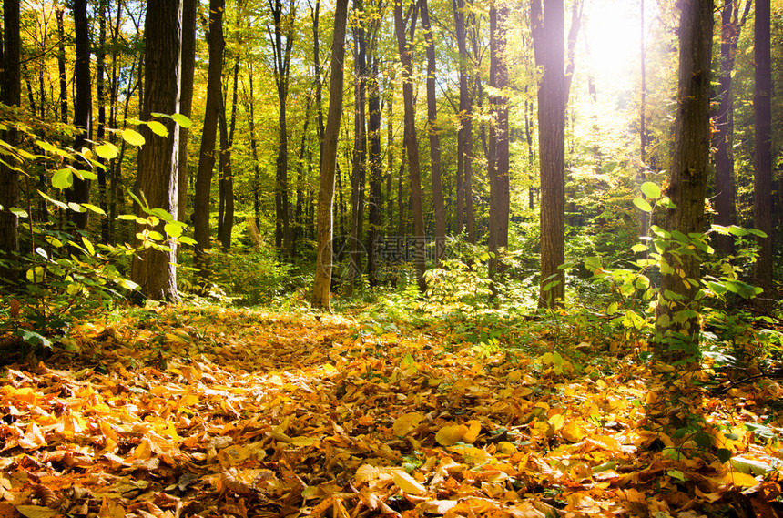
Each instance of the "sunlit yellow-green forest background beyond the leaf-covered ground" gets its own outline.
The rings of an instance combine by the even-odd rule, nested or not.
[[[565,304],[631,330],[654,323],[660,273],[647,236],[663,235],[670,203],[675,2],[547,2],[542,12],[538,2],[396,10],[355,0],[341,87],[332,83],[335,6],[317,0],[188,1],[173,51],[150,50],[164,30],[164,14],[149,19],[156,3],[27,1],[16,25],[17,4],[4,3],[5,104],[18,107],[3,108],[0,190],[4,249],[19,250],[5,256],[5,279],[30,298],[20,309],[18,292],[6,291],[14,315],[67,320],[131,288],[150,299],[296,307],[310,300],[317,254],[330,245],[327,292],[341,301],[411,306],[401,300],[416,300],[418,287],[435,312]],[[563,20],[549,22],[549,9]],[[759,178],[756,16],[750,1],[714,10],[700,260],[708,307],[740,310],[758,286],[748,316],[769,317],[783,260],[781,109],[767,90],[771,161]],[[779,84],[778,1],[768,25]],[[554,86],[546,63],[558,41]],[[175,104],[155,105],[164,95],[150,76],[167,55],[181,66],[181,90]],[[555,90],[565,103],[559,158],[544,143],[556,126],[545,94]],[[336,100],[333,234],[319,245],[321,143]],[[174,176],[149,172],[167,138],[169,152],[178,147]],[[719,227],[708,231],[710,221]],[[150,250],[163,262],[139,259]],[[150,284],[153,270],[164,279]],[[329,297],[312,300],[330,307]]]

